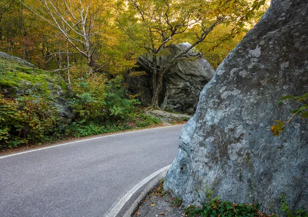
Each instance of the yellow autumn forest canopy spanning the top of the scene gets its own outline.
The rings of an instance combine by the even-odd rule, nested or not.
[[[89,66],[89,73],[103,68],[123,72],[141,53],[155,54],[170,44],[189,42],[197,44],[216,68],[261,17],[265,3],[3,0],[0,49],[42,69],[81,63]]]

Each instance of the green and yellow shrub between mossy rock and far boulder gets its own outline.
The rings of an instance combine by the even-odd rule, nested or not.
[[[108,81],[103,74],[78,78],[72,84],[72,107],[79,121],[131,120],[136,116],[137,100],[126,98],[121,77]]]

